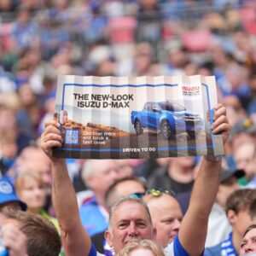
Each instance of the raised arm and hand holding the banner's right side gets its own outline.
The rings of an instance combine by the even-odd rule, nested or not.
[[[224,143],[230,134],[226,109],[218,104],[215,108],[212,132],[222,132]],[[191,256],[202,255],[207,236],[208,217],[218,193],[221,160],[205,156],[195,179],[189,208],[181,224],[178,238]]]

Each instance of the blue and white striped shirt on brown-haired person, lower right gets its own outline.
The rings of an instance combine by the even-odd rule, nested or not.
[[[205,250],[204,256],[215,255],[238,256],[232,243],[232,232],[226,240],[218,243],[218,245],[214,247],[209,247]]]

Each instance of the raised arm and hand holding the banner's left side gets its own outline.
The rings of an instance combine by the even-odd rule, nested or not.
[[[52,148],[61,147],[61,125],[51,120],[45,124],[41,148],[49,156],[53,174],[53,204],[61,225],[61,240],[68,256],[86,256],[90,253],[90,236],[84,230],[79,217],[79,207],[73,184],[67,173],[66,162],[52,157]]]

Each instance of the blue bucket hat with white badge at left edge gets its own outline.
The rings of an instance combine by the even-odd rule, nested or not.
[[[20,201],[16,195],[15,187],[8,178],[0,178],[0,206],[2,204],[16,201],[20,204],[22,211],[26,211],[26,203]]]

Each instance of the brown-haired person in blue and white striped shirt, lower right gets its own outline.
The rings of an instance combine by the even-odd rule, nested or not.
[[[255,189],[238,189],[230,195],[226,203],[226,214],[232,231],[224,241],[214,247],[207,248],[204,256],[239,255],[244,232],[253,223],[250,207],[255,199]]]

